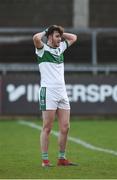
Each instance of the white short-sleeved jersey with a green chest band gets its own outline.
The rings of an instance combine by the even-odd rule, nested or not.
[[[52,48],[47,44],[44,44],[41,49],[36,48],[41,74],[41,87],[65,86],[63,52],[67,47],[67,42],[63,41],[57,48]]]

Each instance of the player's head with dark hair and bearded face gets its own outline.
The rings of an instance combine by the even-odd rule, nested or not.
[[[61,26],[52,25],[48,28],[46,36],[48,39],[48,44],[52,47],[59,47],[62,40],[64,29]]]

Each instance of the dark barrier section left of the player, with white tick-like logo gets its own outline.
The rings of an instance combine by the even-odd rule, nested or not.
[[[33,74],[3,77],[3,114],[39,114],[39,76]]]

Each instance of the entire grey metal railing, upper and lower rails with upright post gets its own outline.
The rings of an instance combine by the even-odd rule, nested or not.
[[[36,32],[42,31],[41,28],[0,28],[0,35],[4,34],[25,34],[27,38],[32,38],[32,35]],[[74,29],[69,28],[65,29],[68,32],[74,32],[76,34],[79,33],[90,33],[92,37],[92,56],[90,64],[65,64],[65,71],[70,72],[93,72],[96,74],[97,72],[105,72],[106,74],[110,72],[117,73],[117,64],[107,64],[100,65],[97,61],[97,35],[98,33],[117,33],[117,28],[86,28],[86,29]],[[20,37],[21,39],[21,37]],[[18,63],[0,63],[0,71],[6,73],[8,71],[37,71],[38,66],[36,64],[18,64]]]

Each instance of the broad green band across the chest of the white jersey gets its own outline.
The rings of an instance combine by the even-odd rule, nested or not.
[[[49,51],[44,51],[44,54],[42,57],[37,56],[37,61],[39,64],[42,62],[51,62],[51,63],[60,64],[60,63],[63,63],[64,56],[63,56],[63,53],[60,56],[57,56],[57,55],[53,55]]]

